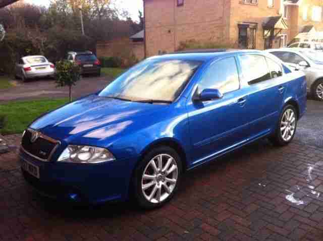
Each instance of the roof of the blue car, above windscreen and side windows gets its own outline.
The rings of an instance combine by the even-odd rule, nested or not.
[[[264,52],[260,50],[253,50],[253,49],[244,49],[244,50],[237,50],[237,49],[198,49],[198,50],[186,50],[186,51],[179,51],[170,54],[164,55],[157,55],[151,58],[158,58],[158,59],[185,59],[191,61],[209,61],[213,58],[229,55],[231,53],[260,53],[264,54]]]

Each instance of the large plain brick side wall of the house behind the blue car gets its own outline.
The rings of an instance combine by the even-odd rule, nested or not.
[[[181,41],[227,42],[230,0],[145,0],[147,56],[173,52]],[[227,14],[226,14],[227,12]]]

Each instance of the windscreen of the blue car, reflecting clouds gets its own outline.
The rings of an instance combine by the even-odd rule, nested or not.
[[[147,59],[113,81],[99,96],[174,101],[201,64],[183,59]]]

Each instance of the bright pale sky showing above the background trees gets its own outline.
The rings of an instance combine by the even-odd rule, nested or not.
[[[48,7],[50,0],[25,0],[26,3]],[[117,0],[118,7],[127,10],[132,19],[138,21],[138,11],[143,9],[142,0]]]

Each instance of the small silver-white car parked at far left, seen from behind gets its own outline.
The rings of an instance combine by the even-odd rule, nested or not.
[[[41,55],[25,56],[19,59],[15,67],[15,77],[26,81],[32,78],[53,77],[55,65]]]

